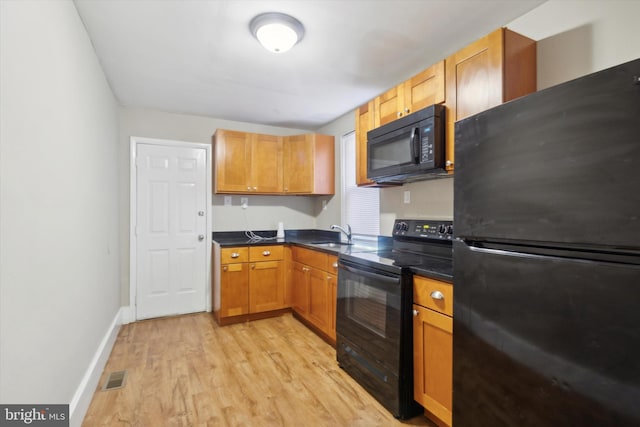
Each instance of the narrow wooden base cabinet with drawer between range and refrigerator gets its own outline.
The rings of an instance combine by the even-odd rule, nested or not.
[[[413,390],[425,415],[451,426],[453,391],[453,286],[414,277]]]

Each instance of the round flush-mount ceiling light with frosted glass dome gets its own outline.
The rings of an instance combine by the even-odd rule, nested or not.
[[[283,53],[304,36],[302,23],[284,13],[268,12],[256,16],[249,23],[251,34],[270,52]]]

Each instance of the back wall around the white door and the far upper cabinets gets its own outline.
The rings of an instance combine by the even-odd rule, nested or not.
[[[296,135],[309,130],[264,126],[211,117],[172,114],[157,110],[120,109],[120,283],[122,305],[129,305],[129,179],[131,136],[211,143],[216,129],[233,129],[273,135]],[[275,230],[282,221],[286,229],[316,227],[315,197],[245,196],[248,209],[240,207],[240,196],[232,196],[232,206],[224,206],[224,196],[212,200],[213,231]]]

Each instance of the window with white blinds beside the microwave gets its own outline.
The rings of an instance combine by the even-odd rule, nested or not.
[[[380,234],[380,190],[356,185],[356,134],[342,136],[342,223],[353,234]]]

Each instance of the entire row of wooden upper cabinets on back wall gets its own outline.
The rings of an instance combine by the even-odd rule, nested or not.
[[[281,137],[218,129],[213,143],[216,193],[335,192],[333,136]]]

